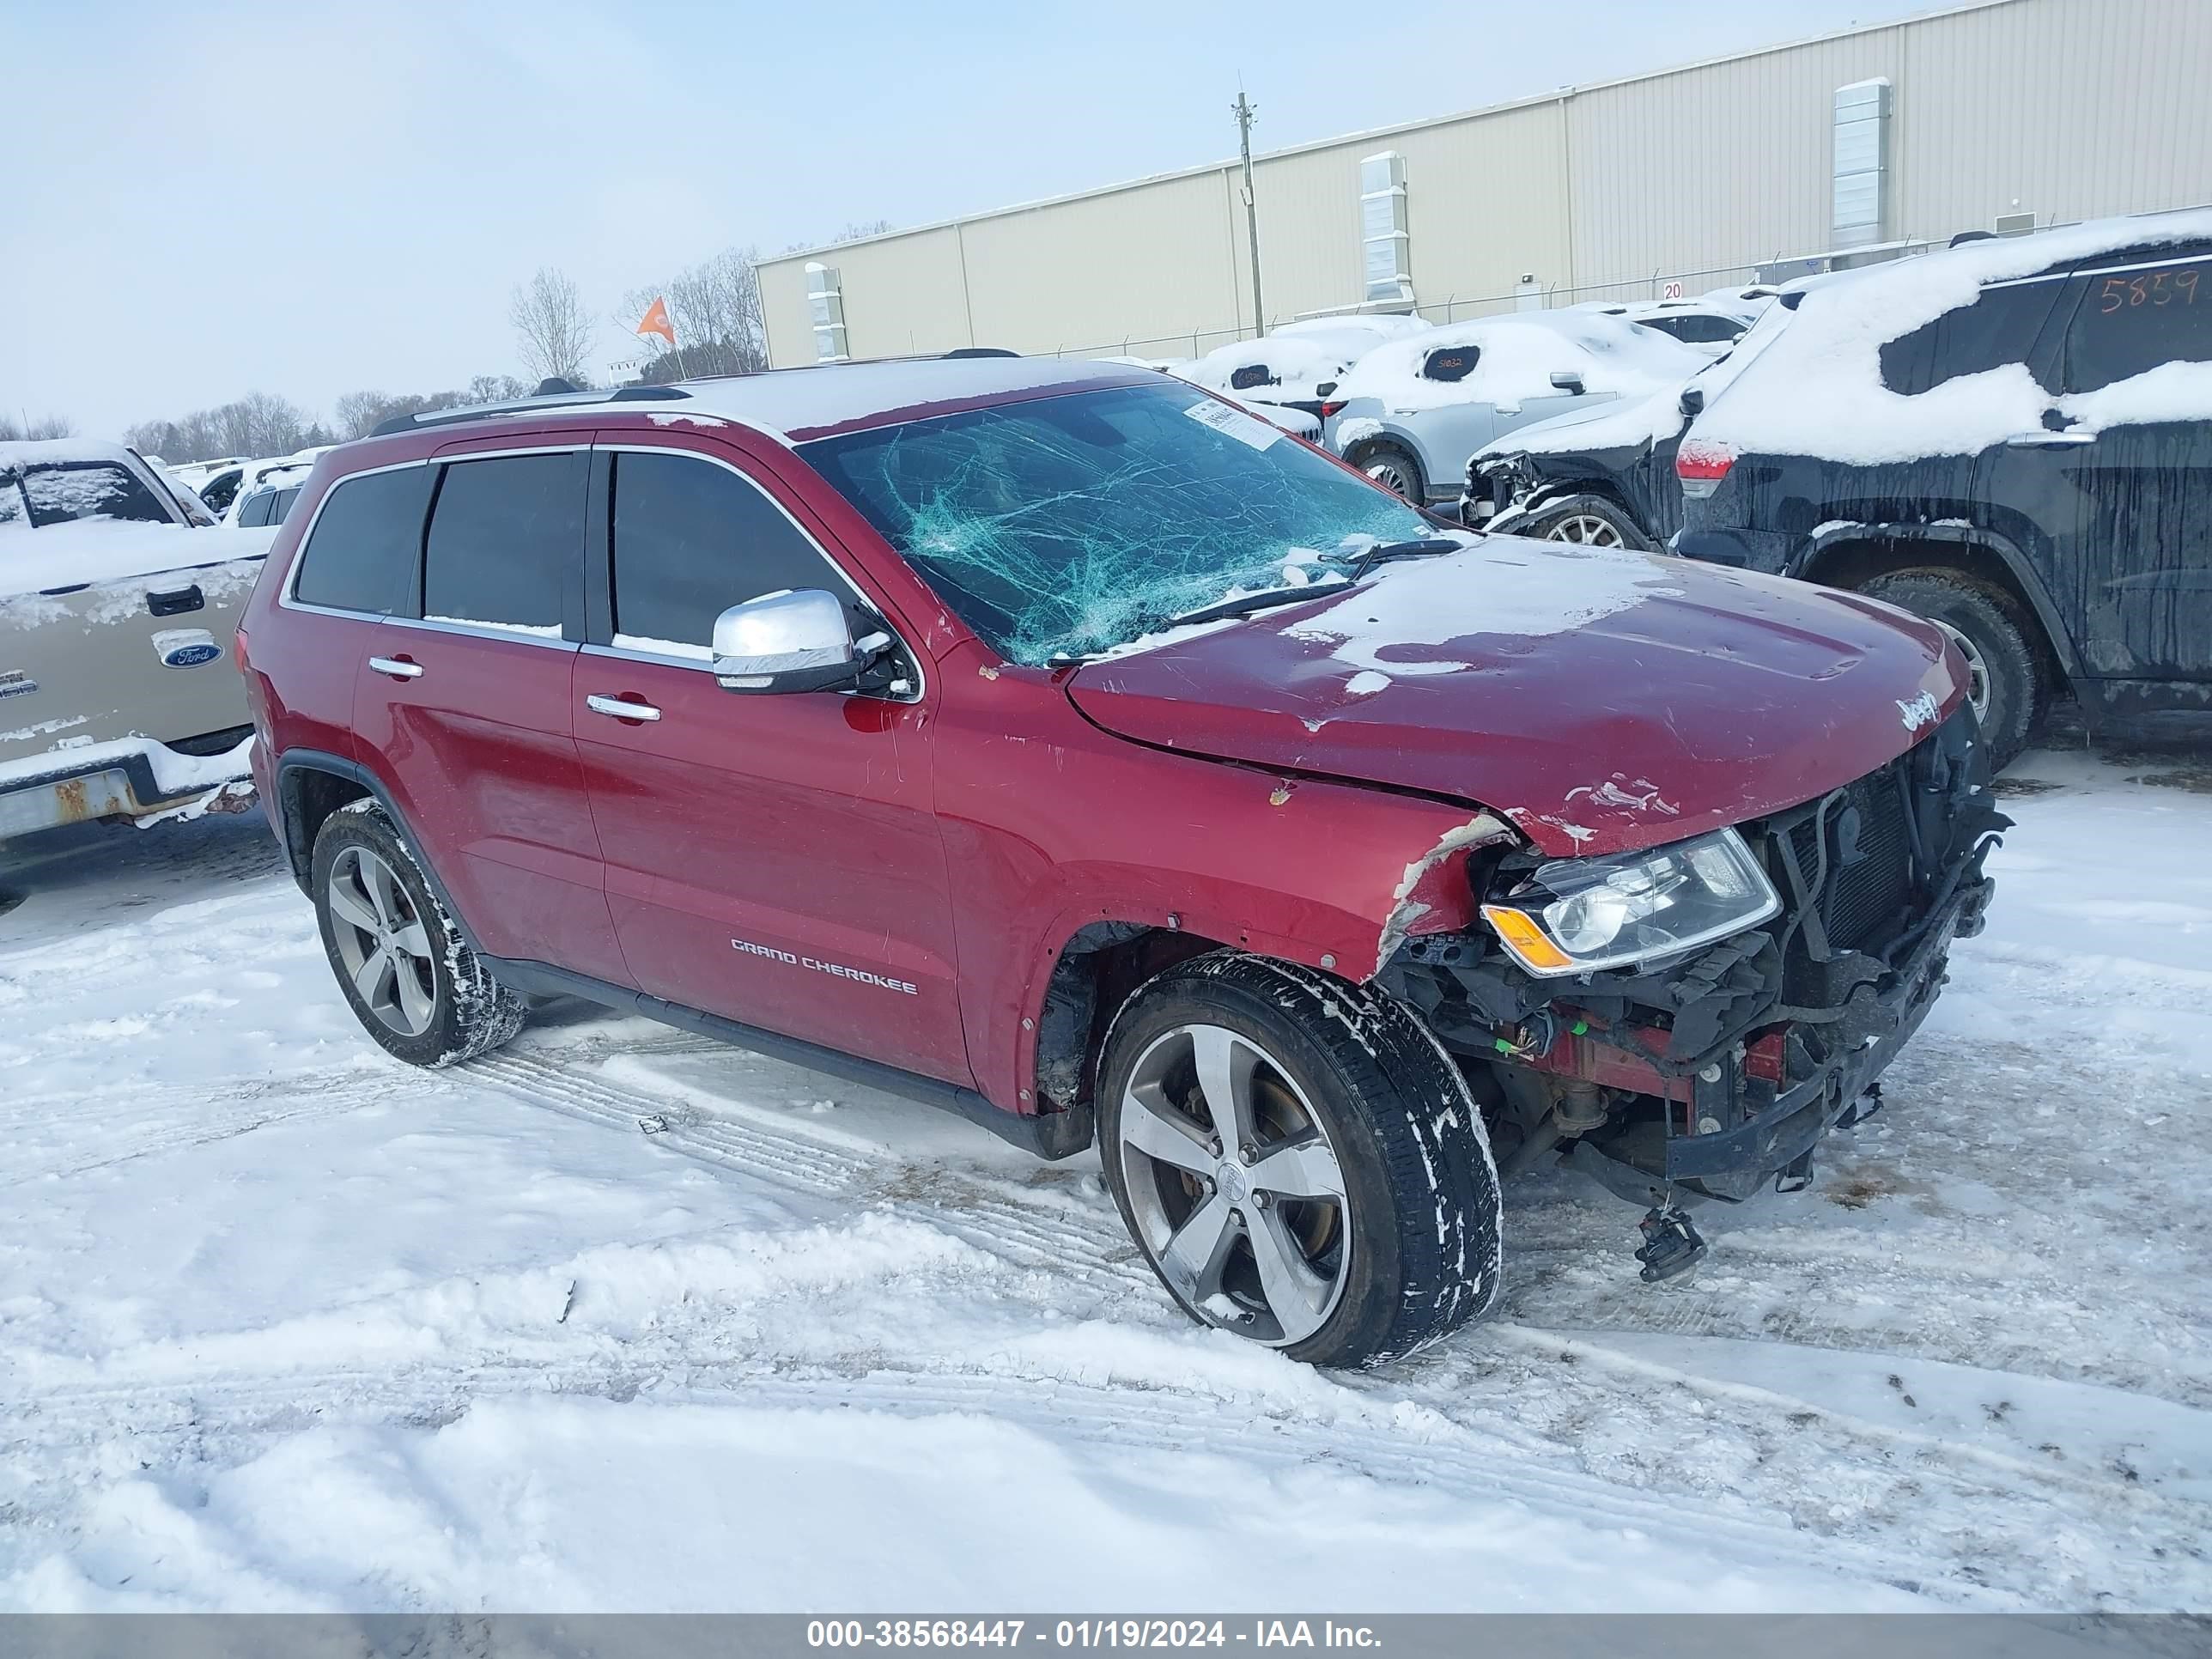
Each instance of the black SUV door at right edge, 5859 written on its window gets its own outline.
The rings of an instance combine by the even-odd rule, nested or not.
[[[2073,288],[2059,392],[2081,438],[2046,458],[2044,502],[2073,544],[2081,661],[2212,679],[2212,403],[2181,387],[2212,365],[2212,252],[2101,263]]]

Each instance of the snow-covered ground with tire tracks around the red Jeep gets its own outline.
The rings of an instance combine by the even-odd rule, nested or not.
[[[2212,783],[2008,779],[1818,1183],[1509,1192],[1380,1376],[1190,1329],[1097,1164],[584,1009],[380,1055],[259,821],[0,885],[0,1606],[2212,1606]],[[653,1124],[655,1133],[644,1133]]]

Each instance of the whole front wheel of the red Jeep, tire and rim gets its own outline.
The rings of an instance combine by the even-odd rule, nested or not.
[[[1228,1115],[1250,1139],[1217,1135],[1208,1053],[1217,1079],[1245,1077]],[[1380,1365],[1498,1298],[1502,1217],[1482,1115],[1394,998],[1234,951],[1192,958],[1115,1015],[1097,1104],[1121,1221],[1203,1325],[1312,1365]],[[1332,1177],[1336,1192],[1316,1194]],[[1283,1276],[1283,1243],[1305,1252],[1290,1259],[1305,1276]],[[1307,1296],[1323,1281],[1327,1296]],[[1276,1301],[1294,1314],[1279,1316]]]

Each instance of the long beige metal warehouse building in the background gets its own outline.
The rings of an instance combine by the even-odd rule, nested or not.
[[[1657,299],[2212,201],[2212,0],[1980,0],[1254,161],[1270,325]],[[1237,161],[761,265],[770,358],[1194,356],[1252,327]]]

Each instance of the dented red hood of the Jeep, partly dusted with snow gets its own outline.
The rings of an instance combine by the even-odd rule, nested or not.
[[[1480,803],[1551,856],[1809,801],[1960,701],[1942,635],[1854,593],[1513,535],[1086,664],[1139,743]]]

